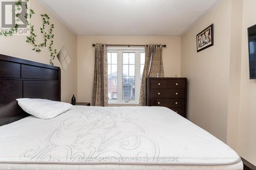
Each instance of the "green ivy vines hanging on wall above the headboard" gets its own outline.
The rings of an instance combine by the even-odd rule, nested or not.
[[[17,0],[17,2],[15,4],[16,5],[15,6],[15,17],[16,18],[14,19],[13,28],[11,28],[9,31],[6,31],[6,32],[0,32],[0,35],[13,36],[13,34],[18,31],[19,25],[17,24],[17,22],[20,21],[20,19],[18,19],[18,16],[20,15],[20,12],[21,12],[20,10],[22,10],[21,6],[22,6],[23,2],[27,2],[25,4],[26,9],[27,9],[27,13],[25,13],[25,18],[26,18],[27,25],[30,28],[30,35],[27,36],[26,42],[30,43],[33,46],[32,50],[37,53],[41,52],[41,48],[48,46],[48,49],[50,52],[50,65],[53,65],[53,60],[57,54],[57,50],[56,49],[53,50],[54,25],[51,24],[50,17],[48,14],[41,14],[40,16],[42,18],[42,27],[40,28],[40,33],[42,34],[44,41],[40,42],[40,43],[36,43],[35,38],[37,37],[37,35],[34,32],[35,31],[34,26],[30,22],[31,17],[33,14],[35,14],[35,12],[34,12],[34,10],[29,9],[29,6],[28,6],[29,0]],[[46,31],[46,27],[49,27],[48,31]]]

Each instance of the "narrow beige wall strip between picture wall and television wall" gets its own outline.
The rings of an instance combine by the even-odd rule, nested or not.
[[[239,152],[239,110],[242,54],[243,1],[232,0],[227,113],[227,144]]]

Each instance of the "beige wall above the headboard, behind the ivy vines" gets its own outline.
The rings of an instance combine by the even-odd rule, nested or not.
[[[53,34],[55,35],[53,48],[59,52],[62,46],[65,45],[71,57],[71,63],[66,71],[61,68],[57,58],[54,60],[54,65],[60,66],[61,68],[61,100],[70,102],[72,94],[77,94],[77,36],[58,21],[44,6],[39,4],[37,0],[30,1],[30,7],[36,13],[33,15],[31,23],[35,26],[34,29],[38,35],[36,37],[37,42],[42,41],[39,32],[42,25],[40,14],[48,13],[51,17],[51,22],[55,25],[53,30]],[[49,64],[50,54],[47,47],[42,49],[40,53],[36,53],[32,51],[32,45],[25,41],[26,36],[0,36],[0,53]]]

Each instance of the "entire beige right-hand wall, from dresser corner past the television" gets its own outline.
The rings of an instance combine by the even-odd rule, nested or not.
[[[188,118],[256,165],[256,80],[249,79],[247,28],[256,1],[224,0],[182,36]],[[196,34],[214,23],[215,45],[196,52]]]

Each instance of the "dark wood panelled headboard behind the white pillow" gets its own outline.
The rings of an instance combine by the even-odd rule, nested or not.
[[[60,101],[60,68],[0,54],[0,126],[28,116],[19,98]]]

